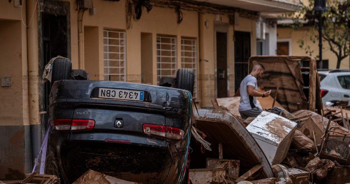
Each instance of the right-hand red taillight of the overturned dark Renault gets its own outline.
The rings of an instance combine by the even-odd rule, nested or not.
[[[145,134],[174,140],[181,140],[184,134],[184,131],[179,128],[164,125],[144,124],[142,128],[144,129]]]

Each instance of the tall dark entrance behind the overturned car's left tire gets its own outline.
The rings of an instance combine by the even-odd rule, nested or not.
[[[44,1],[43,12],[39,15],[39,75],[52,57],[71,57],[70,3]],[[48,124],[50,82],[39,85],[39,107],[41,127],[44,133]],[[46,112],[46,113],[45,113]]]

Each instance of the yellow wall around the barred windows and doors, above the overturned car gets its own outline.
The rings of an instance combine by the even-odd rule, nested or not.
[[[71,3],[71,60],[72,67],[78,68],[78,30],[77,30],[77,11],[75,8],[75,1]],[[216,76],[215,76],[215,22],[226,23],[228,26],[228,67],[230,71],[229,76],[229,96],[235,94],[234,91],[234,41],[233,33],[235,30],[251,32],[251,54],[255,55],[255,21],[246,18],[239,18],[239,25],[229,25],[229,18],[227,15],[220,15],[219,19],[215,14],[200,14],[203,18],[200,18],[198,23],[198,13],[195,11],[183,11],[183,21],[177,24],[177,14],[174,9],[153,7],[152,11],[147,13],[145,10],[142,12],[140,20],[132,19],[132,28],[126,29],[126,11],[125,0],[119,2],[111,1],[94,1],[94,7],[97,8],[96,15],[84,14],[83,26],[96,26],[98,27],[98,41],[96,45],[99,48],[98,64],[89,61],[85,53],[85,69],[91,73],[91,79],[103,80],[103,29],[122,30],[126,32],[126,80],[128,82],[141,83],[141,33],[149,33],[152,35],[152,57],[153,57],[153,79],[151,82],[156,84],[156,36],[157,34],[175,36],[177,38],[177,67],[181,67],[181,37],[196,38],[198,40],[197,53],[198,53],[198,94],[199,103],[202,107],[211,106],[211,99],[216,97]],[[160,16],[161,15],[161,16]],[[209,21],[209,28],[204,27],[204,21]],[[199,27],[198,27],[199,25]],[[199,39],[200,29],[203,31],[204,38]],[[85,33],[84,33],[85,34]],[[87,36],[85,35],[85,41]],[[90,52],[92,47],[86,48],[85,52]],[[202,55],[200,52],[202,50]],[[208,60],[208,62],[199,62],[199,60]],[[96,60],[97,62],[97,60]],[[92,64],[91,66],[88,66]]]

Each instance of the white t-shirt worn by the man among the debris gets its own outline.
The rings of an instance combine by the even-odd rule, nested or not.
[[[248,85],[253,86],[255,90],[258,90],[257,78],[249,74],[244,77],[243,81],[241,82],[239,89],[241,95],[241,100],[238,107],[239,111],[250,110],[257,107],[257,97],[248,95]]]

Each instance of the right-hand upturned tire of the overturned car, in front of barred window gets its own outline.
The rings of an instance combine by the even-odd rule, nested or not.
[[[176,86],[178,89],[184,89],[193,95],[195,83],[195,73],[192,69],[180,68],[176,73]]]

